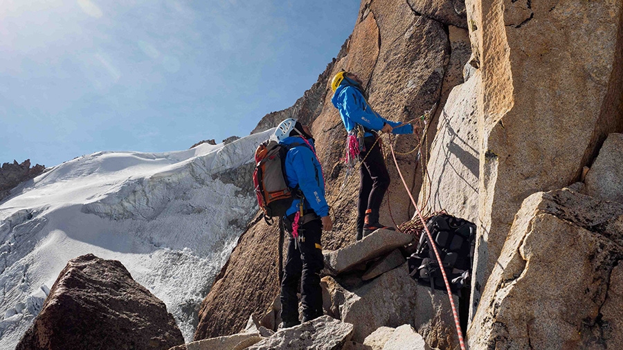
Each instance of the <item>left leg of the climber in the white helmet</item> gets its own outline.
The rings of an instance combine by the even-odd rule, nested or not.
[[[281,318],[285,328],[300,323],[298,321],[298,297],[296,292],[302,269],[303,263],[300,259],[300,251],[294,245],[294,238],[290,237],[281,282]]]

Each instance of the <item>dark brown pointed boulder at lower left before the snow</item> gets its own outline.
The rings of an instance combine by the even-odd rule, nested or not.
[[[169,349],[183,342],[165,304],[119,261],[82,255],[62,270],[16,349]]]

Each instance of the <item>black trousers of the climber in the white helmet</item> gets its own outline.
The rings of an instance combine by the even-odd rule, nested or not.
[[[290,218],[291,219],[291,218]],[[291,222],[285,220],[288,232],[292,232]],[[303,320],[313,320],[323,315],[323,291],[320,288],[320,271],[325,267],[323,250],[320,246],[322,221],[311,220],[299,226],[300,240],[298,249],[290,236],[288,252],[281,282],[281,318],[285,323],[298,322],[298,284],[300,280]]]

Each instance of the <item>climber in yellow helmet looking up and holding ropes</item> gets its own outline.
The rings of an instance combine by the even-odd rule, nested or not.
[[[349,135],[363,134],[363,140],[359,140],[358,145],[362,150],[359,158],[363,159],[363,164],[359,169],[356,240],[379,228],[394,230],[379,223],[379,211],[383,196],[390,185],[390,177],[381,145],[376,142],[378,132],[413,133],[413,125],[401,125],[400,122],[392,122],[379,116],[368,104],[362,84],[359,77],[346,71],[338,72],[331,83],[334,91],[331,102],[340,111],[346,131]]]

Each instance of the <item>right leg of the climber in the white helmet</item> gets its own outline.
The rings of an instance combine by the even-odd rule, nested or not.
[[[303,322],[323,315],[323,291],[320,288],[320,271],[325,267],[323,248],[320,246],[322,222],[318,219],[303,225],[305,241],[300,242],[303,276],[301,277],[301,304]]]

